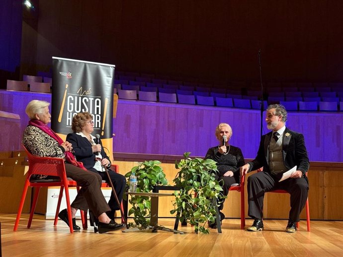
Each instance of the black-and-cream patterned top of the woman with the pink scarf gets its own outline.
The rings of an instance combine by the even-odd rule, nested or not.
[[[65,159],[59,143],[47,133],[35,126],[27,126],[24,130],[22,144],[33,155],[40,157],[57,157]],[[45,175],[33,175],[31,179],[44,179]]]

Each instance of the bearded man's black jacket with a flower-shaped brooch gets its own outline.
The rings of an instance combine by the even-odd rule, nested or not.
[[[257,156],[255,160],[249,162],[249,172],[263,167],[264,172],[270,173],[269,141],[271,136],[272,131],[265,135],[262,135],[257,151]],[[286,128],[283,133],[282,151],[283,163],[287,170],[293,168],[296,165],[297,170],[302,171],[303,176],[305,176],[305,173],[310,167],[310,163],[307,157],[304,135]]]

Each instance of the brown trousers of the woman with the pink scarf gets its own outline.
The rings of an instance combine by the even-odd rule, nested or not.
[[[89,207],[96,217],[109,211],[110,208],[101,192],[101,176],[69,163],[65,166],[67,177],[75,180],[81,187],[71,206],[84,211]]]

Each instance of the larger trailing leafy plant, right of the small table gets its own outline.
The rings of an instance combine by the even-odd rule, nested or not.
[[[171,214],[181,213],[180,221],[186,221],[195,226],[195,232],[208,234],[206,222],[214,222],[216,210],[214,204],[223,200],[223,189],[214,174],[218,173],[216,162],[211,159],[191,159],[190,152],[183,154],[184,159],[175,161],[175,168],[179,169],[173,182],[176,187],[174,209]],[[214,200],[215,199],[215,200]]]

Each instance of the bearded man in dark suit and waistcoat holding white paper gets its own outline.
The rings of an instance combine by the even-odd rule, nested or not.
[[[248,178],[248,215],[254,219],[248,231],[263,230],[264,193],[273,190],[285,190],[290,193],[290,205],[286,232],[296,232],[296,223],[304,208],[308,196],[306,172],[310,167],[304,136],[285,127],[287,111],[284,106],[269,105],[266,110],[269,133],[262,135],[256,158],[241,167],[241,176],[263,168]],[[290,178],[279,182],[283,173],[296,166]]]

